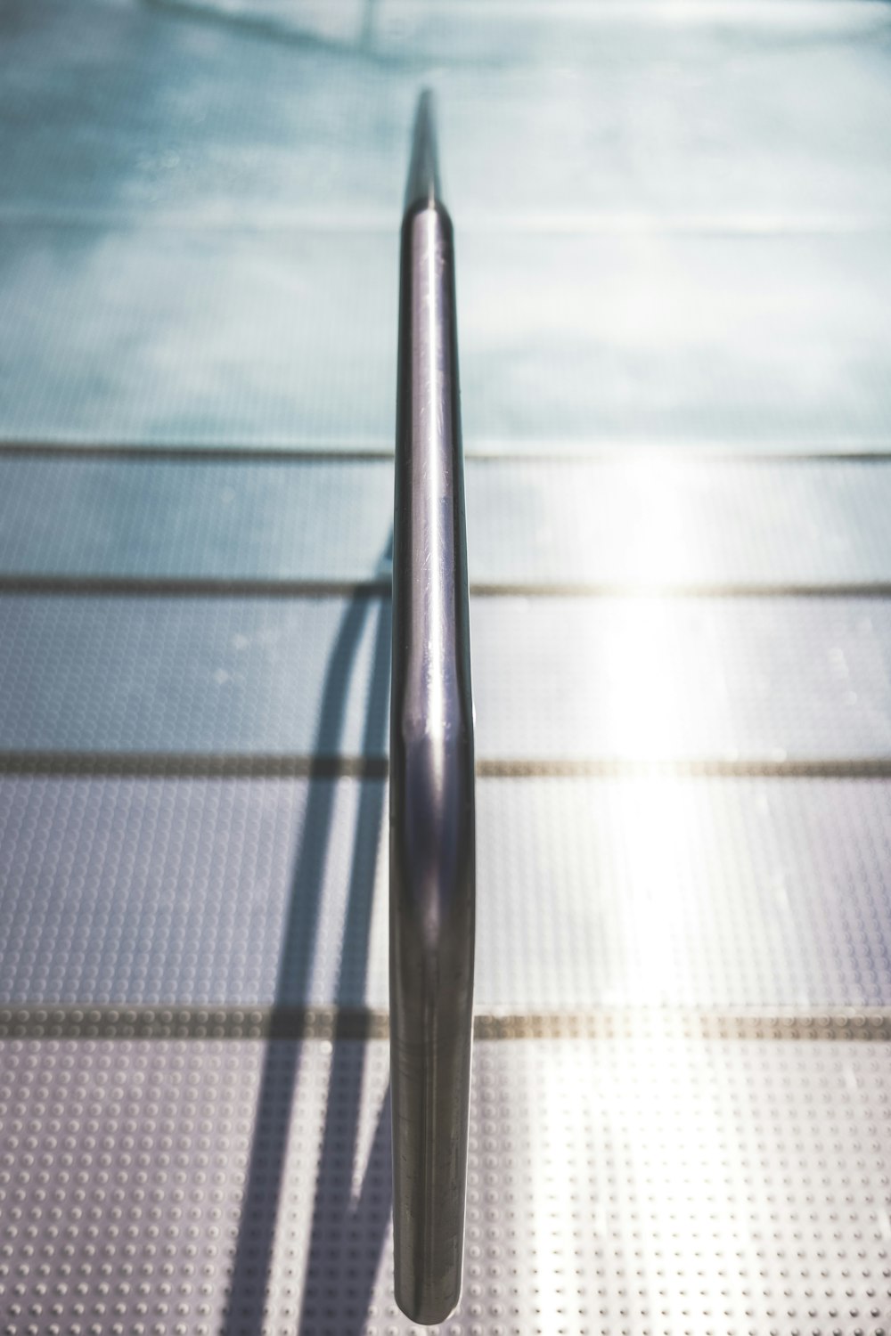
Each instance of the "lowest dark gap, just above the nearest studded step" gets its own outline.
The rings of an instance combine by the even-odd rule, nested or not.
[[[474,1037],[613,1039],[641,1034],[687,1039],[891,1041],[891,1010],[719,1013],[622,1007],[602,1011],[480,1013]],[[387,1011],[337,1006],[0,1007],[0,1039],[386,1039]]]

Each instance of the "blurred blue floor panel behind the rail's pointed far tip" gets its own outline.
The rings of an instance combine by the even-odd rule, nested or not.
[[[879,3],[27,0],[0,24],[0,219],[395,230],[425,79],[461,224],[891,212]]]

